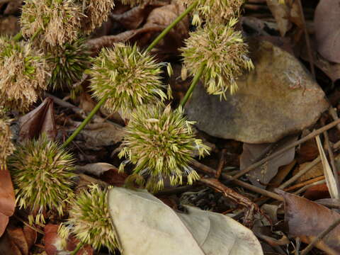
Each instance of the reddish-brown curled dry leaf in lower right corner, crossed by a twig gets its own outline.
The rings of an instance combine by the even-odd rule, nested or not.
[[[276,192],[285,198],[285,222],[288,224],[289,234],[300,237],[302,242],[310,243],[317,237],[317,234],[340,218],[339,213],[306,198],[280,190]],[[329,254],[339,254],[340,226],[327,234],[315,246]]]

